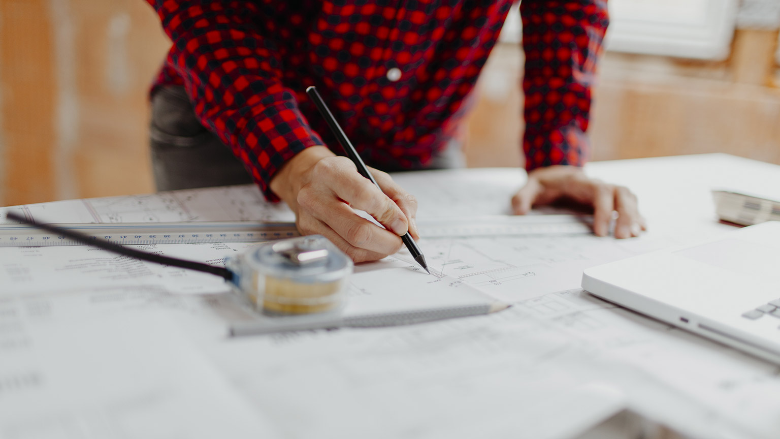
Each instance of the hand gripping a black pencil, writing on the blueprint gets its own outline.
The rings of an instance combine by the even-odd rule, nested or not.
[[[271,191],[296,213],[301,234],[327,237],[355,262],[374,261],[398,252],[401,235],[419,239],[414,217],[417,200],[384,172],[371,169],[371,180],[346,157],[324,146],[306,148],[271,180]],[[385,228],[358,216],[366,211]]]

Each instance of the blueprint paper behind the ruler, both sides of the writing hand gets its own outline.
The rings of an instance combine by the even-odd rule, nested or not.
[[[509,214],[509,199],[522,184],[524,174],[512,169],[470,170],[466,174],[436,170],[394,177],[417,197],[418,219],[439,219]],[[295,220],[284,203],[267,202],[254,184],[0,208],[0,223],[6,221],[6,209],[46,223]]]

